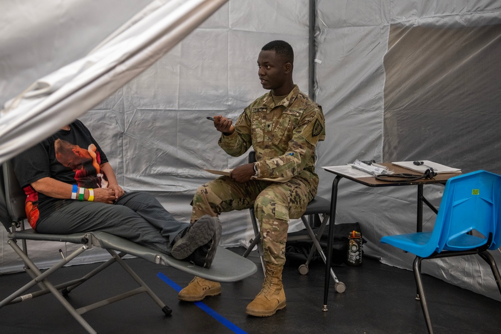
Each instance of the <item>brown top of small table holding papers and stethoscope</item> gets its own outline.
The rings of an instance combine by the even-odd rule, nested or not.
[[[397,166],[395,164],[392,164],[391,162],[383,162],[379,163],[383,166],[387,166],[391,171],[395,172],[395,174],[400,174],[400,173],[406,173],[406,174],[412,174],[412,175],[421,175],[419,172],[414,172],[411,170],[408,170],[406,168]],[[368,186],[368,187],[392,187],[392,186],[413,186],[413,185],[425,185],[425,184],[442,184],[444,185],[447,180],[450,178],[453,178],[455,176],[461,175],[461,173],[443,173],[443,174],[438,174],[432,179],[420,179],[416,181],[406,181],[405,179],[402,179],[402,181],[398,182],[388,182],[388,181],[379,181],[376,180],[374,176],[368,176],[368,177],[357,177],[350,175],[348,173],[343,173],[342,170],[336,170],[336,167],[344,167],[344,166],[331,166],[333,170],[330,170],[329,167],[324,167],[324,169],[327,172],[336,174],[339,177],[343,177],[352,181],[355,181],[357,183],[360,183],[362,185]],[[363,173],[363,172],[362,172]]]

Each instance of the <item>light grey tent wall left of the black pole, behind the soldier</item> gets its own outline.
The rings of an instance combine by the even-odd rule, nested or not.
[[[4,28],[6,41],[2,45],[12,47],[2,48],[2,59],[7,61],[0,67],[0,87],[9,90],[0,91],[0,104],[39,77],[88,54],[146,5],[148,2],[129,6],[130,10],[122,13],[128,3],[118,0],[85,10],[80,2],[65,2],[61,9],[60,2],[47,1],[39,4],[37,11],[56,14],[37,17],[31,29],[21,28],[26,18],[16,15],[23,12],[18,6],[0,14],[20,30],[28,30],[20,43],[9,38],[10,29]],[[296,52],[295,81],[308,92],[308,8],[308,0],[294,5],[273,0],[228,2],[153,66],[80,116],[106,151],[119,182],[130,190],[151,192],[177,219],[189,221],[194,191],[214,178],[202,169],[233,168],[247,159],[228,157],[217,145],[219,133],[205,117],[224,114],[236,119],[246,105],[265,93],[256,65],[264,44],[275,39],[292,44]],[[66,13],[75,18],[66,18]],[[34,16],[31,12],[25,15]],[[109,16],[113,17],[112,23],[108,22]],[[91,24],[87,26],[86,20]],[[102,33],[95,28],[101,21],[108,23],[103,24]],[[37,34],[38,26],[45,27],[44,34]],[[71,33],[59,33],[66,31]],[[81,36],[86,37],[85,45],[81,45]],[[76,45],[79,52],[66,53]],[[15,61],[27,46],[46,56]],[[65,56],[56,62],[53,57],[59,55]],[[222,246],[240,245],[241,240],[253,236],[247,210],[224,214],[221,220]],[[297,227],[298,221],[292,229]],[[15,260],[7,246],[6,232],[0,233],[0,272],[21,270],[22,263]],[[42,267],[60,256],[58,248],[65,251],[65,247],[71,247],[44,246],[35,246],[43,250],[37,259]],[[100,259],[101,254],[91,254],[83,261]]]

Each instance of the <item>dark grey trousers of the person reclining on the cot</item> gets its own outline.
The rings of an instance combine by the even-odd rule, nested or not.
[[[131,192],[115,204],[71,200],[41,217],[36,230],[48,234],[103,231],[170,255],[170,242],[187,226],[149,193]]]

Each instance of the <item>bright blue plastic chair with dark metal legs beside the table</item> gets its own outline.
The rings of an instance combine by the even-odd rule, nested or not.
[[[381,238],[416,255],[413,264],[418,295],[428,332],[430,316],[421,279],[421,261],[461,255],[480,255],[490,266],[501,293],[501,276],[487,250],[501,245],[501,176],[476,171],[451,178],[445,190],[432,232],[418,232]]]

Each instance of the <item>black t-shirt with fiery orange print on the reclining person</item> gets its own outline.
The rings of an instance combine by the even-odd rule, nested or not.
[[[83,188],[105,188],[108,185],[106,175],[99,168],[108,162],[106,154],[78,119],[70,124],[70,130],[59,130],[13,161],[16,176],[27,195],[26,213],[32,228],[36,227],[39,217],[44,218],[47,213],[74,200],[37,193],[31,183],[50,177]]]

